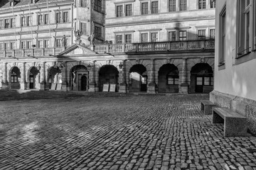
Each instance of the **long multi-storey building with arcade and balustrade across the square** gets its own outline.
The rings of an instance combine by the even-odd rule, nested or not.
[[[1,89],[213,90],[215,1],[0,4]]]

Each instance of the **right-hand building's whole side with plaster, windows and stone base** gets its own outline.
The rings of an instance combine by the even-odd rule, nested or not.
[[[248,118],[256,134],[256,1],[216,1],[215,84],[210,101]]]

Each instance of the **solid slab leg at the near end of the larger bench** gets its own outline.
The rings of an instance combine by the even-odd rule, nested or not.
[[[245,118],[225,118],[225,137],[247,136],[247,121]]]

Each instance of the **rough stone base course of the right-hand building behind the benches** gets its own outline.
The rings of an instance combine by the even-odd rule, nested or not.
[[[248,130],[256,135],[256,101],[240,96],[224,94],[219,91],[210,93],[210,101],[216,105],[240,113],[247,117]]]

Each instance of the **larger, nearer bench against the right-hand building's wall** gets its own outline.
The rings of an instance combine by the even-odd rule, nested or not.
[[[213,123],[224,123],[224,136],[247,136],[247,118],[228,108],[213,108]]]

